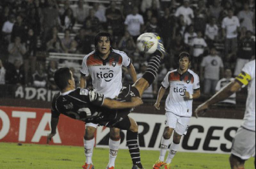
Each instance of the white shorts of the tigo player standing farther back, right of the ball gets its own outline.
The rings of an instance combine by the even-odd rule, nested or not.
[[[179,135],[186,134],[190,117],[181,117],[172,112],[166,112],[166,123],[165,126],[172,128]]]

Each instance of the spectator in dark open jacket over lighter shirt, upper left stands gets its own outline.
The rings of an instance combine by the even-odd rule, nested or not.
[[[72,30],[75,25],[76,19],[71,8],[66,9],[64,14],[60,17],[60,24],[63,30]]]

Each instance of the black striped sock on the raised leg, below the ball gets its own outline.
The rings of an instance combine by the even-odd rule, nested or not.
[[[156,79],[160,63],[161,57],[159,55],[153,54],[148,62],[147,70],[142,76],[144,79],[148,81],[149,85],[151,85]]]

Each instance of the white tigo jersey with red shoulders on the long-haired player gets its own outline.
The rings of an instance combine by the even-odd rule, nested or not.
[[[113,49],[106,60],[92,51],[84,56],[81,73],[91,75],[94,91],[113,99],[122,89],[122,66],[130,64],[130,58],[122,51]]]

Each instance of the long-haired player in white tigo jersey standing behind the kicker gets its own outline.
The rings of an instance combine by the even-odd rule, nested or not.
[[[137,80],[136,71],[131,59],[122,51],[113,49],[113,39],[109,33],[101,32],[95,36],[95,50],[86,55],[82,62],[80,87],[86,87],[86,79],[92,77],[95,92],[105,97],[115,98],[122,89],[122,66],[128,68],[133,82]],[[94,133],[98,124],[86,123],[84,137],[85,149],[93,150]],[[120,145],[120,129],[111,127],[109,137],[109,162],[107,169],[115,167],[115,159]],[[86,154],[88,164],[92,163],[92,151]]]

